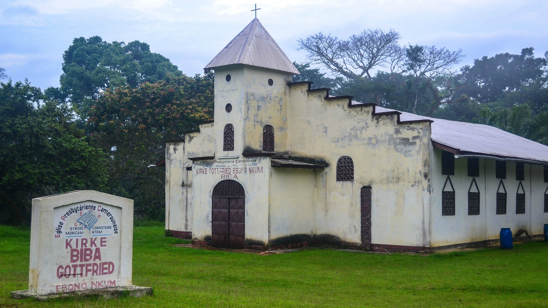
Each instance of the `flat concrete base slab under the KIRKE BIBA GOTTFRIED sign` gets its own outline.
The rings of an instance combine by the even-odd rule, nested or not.
[[[138,287],[138,286],[109,287],[109,288],[102,288],[102,289],[78,290],[73,292],[52,293],[52,294],[44,294],[44,295],[30,294],[28,293],[28,290],[20,290],[20,291],[12,292],[12,298],[14,299],[35,298],[40,301],[59,298],[59,297],[100,296],[101,298],[109,299],[109,298],[117,298],[120,296],[140,297],[145,295],[152,295],[152,288]]]

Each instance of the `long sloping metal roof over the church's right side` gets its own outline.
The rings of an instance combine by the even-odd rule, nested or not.
[[[375,107],[375,113],[387,111],[394,110]],[[409,112],[402,112],[399,119],[400,121],[420,119],[433,121],[432,141],[451,147],[463,155],[478,154],[548,163],[548,146],[493,126],[449,121]]]

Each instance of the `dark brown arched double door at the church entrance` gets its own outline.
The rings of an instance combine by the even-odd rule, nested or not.
[[[212,246],[243,249],[245,216],[246,194],[243,186],[235,180],[218,182],[212,193]]]

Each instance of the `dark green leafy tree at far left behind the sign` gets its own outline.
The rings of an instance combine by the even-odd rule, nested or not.
[[[0,82],[0,204],[20,223],[34,197],[106,189],[104,152],[90,146],[74,114],[27,81]]]

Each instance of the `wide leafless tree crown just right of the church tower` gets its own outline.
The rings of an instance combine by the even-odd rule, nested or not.
[[[394,30],[368,29],[346,41],[320,32],[299,39],[299,49],[308,52],[307,59],[311,64],[322,65],[335,75],[355,80],[367,75],[371,80],[371,71],[376,67],[389,67],[391,71],[398,69],[405,54],[398,44],[400,38]]]

